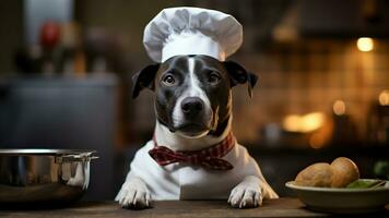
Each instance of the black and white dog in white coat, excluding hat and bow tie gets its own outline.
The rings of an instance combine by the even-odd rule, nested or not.
[[[223,157],[234,167],[225,171],[186,162],[160,166],[148,153],[156,144],[175,152],[197,152],[220,143],[232,131],[232,87],[248,83],[251,92],[256,82],[257,76],[236,62],[200,55],[175,56],[140,71],[132,97],[143,88],[155,92],[154,141],[137,153],[116,201],[122,207],[144,208],[152,198],[228,198],[233,207],[245,208],[261,205],[263,197],[276,198],[238,143]]]

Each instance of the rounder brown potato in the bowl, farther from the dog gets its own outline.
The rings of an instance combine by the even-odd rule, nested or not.
[[[353,160],[339,157],[331,162],[332,168],[332,183],[331,187],[345,187],[347,184],[359,179],[358,167]]]

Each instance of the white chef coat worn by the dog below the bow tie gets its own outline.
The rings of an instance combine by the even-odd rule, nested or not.
[[[142,179],[153,199],[226,199],[247,175],[256,175],[267,184],[255,159],[238,143],[222,157],[234,166],[226,171],[182,162],[160,166],[149,155],[153,147],[150,141],[137,152],[128,174]]]

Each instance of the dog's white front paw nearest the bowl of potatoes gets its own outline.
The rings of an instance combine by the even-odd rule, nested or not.
[[[257,178],[246,178],[231,192],[228,203],[235,208],[251,208],[262,205],[262,193]]]

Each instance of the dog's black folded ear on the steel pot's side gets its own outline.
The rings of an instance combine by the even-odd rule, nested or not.
[[[150,64],[132,76],[132,98],[137,98],[143,88],[154,90],[154,78],[160,69],[160,63]]]

